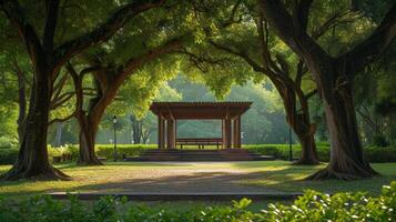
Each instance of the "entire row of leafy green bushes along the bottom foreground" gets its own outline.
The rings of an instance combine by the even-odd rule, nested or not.
[[[83,203],[70,195],[69,201],[57,201],[48,195],[19,202],[0,199],[0,221],[393,221],[396,218],[396,182],[384,186],[382,194],[336,193],[334,195],[308,190],[291,205],[268,204],[260,212],[247,210],[251,201],[242,199],[232,205],[191,208],[190,210],[150,208],[131,204],[125,198],[103,196]],[[263,209],[265,205],[263,205]]]

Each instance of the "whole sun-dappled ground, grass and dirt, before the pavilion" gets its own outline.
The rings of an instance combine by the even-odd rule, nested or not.
[[[396,163],[377,163],[380,178],[358,181],[303,181],[325,167],[296,167],[287,161],[109,162],[100,167],[57,165],[72,181],[0,182],[0,194],[42,192],[95,193],[275,193],[315,189],[325,192],[373,191],[396,180]],[[0,167],[6,172],[10,167]]]

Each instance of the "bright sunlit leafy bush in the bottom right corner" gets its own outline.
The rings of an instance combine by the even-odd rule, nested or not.
[[[270,204],[258,221],[392,221],[395,219],[396,182],[379,196],[367,193],[334,195],[308,190],[292,205]]]

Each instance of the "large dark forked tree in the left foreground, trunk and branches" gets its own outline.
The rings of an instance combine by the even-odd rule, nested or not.
[[[60,14],[59,0],[49,0],[38,3],[40,13],[44,13],[43,22],[35,24],[27,8],[17,0],[0,1],[0,9],[6,13],[21,41],[26,46],[33,67],[33,82],[27,112],[23,139],[20,144],[18,160],[4,175],[6,180],[21,178],[65,179],[68,175],[54,169],[48,159],[47,132],[53,83],[61,67],[75,54],[91,46],[108,40],[131,18],[159,7],[163,1],[133,2],[119,8],[109,19],[94,29],[81,36],[62,40],[57,34]],[[37,13],[38,16],[39,13]],[[63,14],[64,16],[64,14]],[[29,18],[30,17],[30,18]]]

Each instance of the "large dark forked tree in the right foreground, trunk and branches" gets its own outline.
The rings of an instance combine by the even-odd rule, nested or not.
[[[276,0],[261,0],[260,8],[277,36],[307,65],[323,99],[331,135],[331,161],[309,179],[357,179],[377,173],[364,157],[358,135],[352,85],[354,77],[378,58],[396,34],[396,6],[373,33],[353,49],[331,56],[304,29],[312,0],[295,0],[292,13]]]

